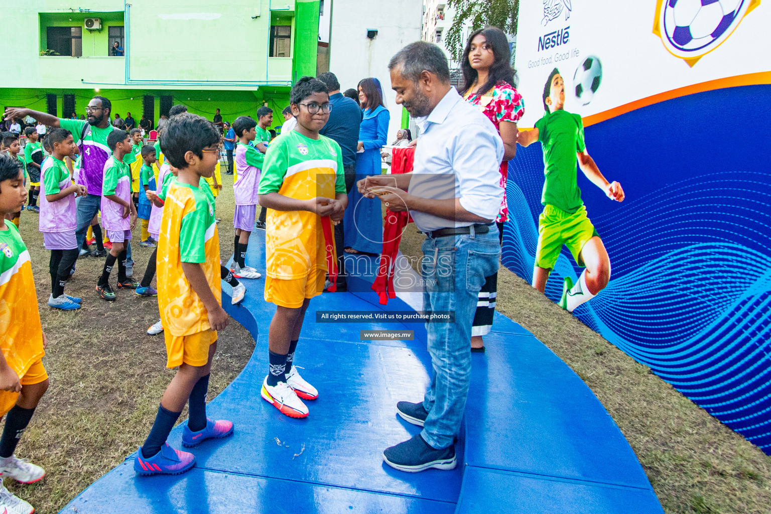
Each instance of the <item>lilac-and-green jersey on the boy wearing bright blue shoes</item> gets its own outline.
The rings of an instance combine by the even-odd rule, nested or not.
[[[56,202],[46,200],[46,195],[60,193],[72,185],[69,170],[62,161],[49,156],[40,166],[40,218],[41,232],[74,232],[76,229],[75,193]]]

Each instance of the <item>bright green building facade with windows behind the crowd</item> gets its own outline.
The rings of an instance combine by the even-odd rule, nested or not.
[[[267,105],[278,126],[292,84],[316,74],[318,13],[319,0],[12,2],[0,109],[69,118],[99,94],[153,125],[182,103],[228,122]]]

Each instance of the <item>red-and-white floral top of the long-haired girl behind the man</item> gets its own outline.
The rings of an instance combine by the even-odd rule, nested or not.
[[[500,134],[500,122],[507,121],[517,123],[525,113],[525,102],[508,82],[499,80],[490,91],[484,94],[472,93],[476,85],[470,88],[469,92],[463,95],[463,99],[473,106],[477,106],[481,113],[493,122],[493,125]],[[506,177],[509,170],[509,163],[503,161],[500,163],[500,186],[503,187],[503,201],[500,203],[500,211],[496,221],[506,222],[509,219],[509,209],[506,202]]]

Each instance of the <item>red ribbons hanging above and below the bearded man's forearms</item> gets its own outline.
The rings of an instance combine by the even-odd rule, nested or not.
[[[414,148],[394,148],[391,160],[391,173],[409,173],[412,171],[412,165],[415,161]],[[372,284],[372,291],[380,297],[380,304],[388,304],[389,298],[396,298],[396,291],[393,289],[393,270],[396,263],[396,256],[399,254],[399,243],[402,240],[402,230],[407,223],[412,221],[409,212],[403,211],[394,213],[391,210],[385,210],[385,223],[383,223],[383,251],[380,257],[378,275]]]

